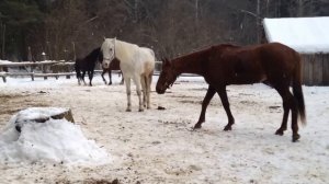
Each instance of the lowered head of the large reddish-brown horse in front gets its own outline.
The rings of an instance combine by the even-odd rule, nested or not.
[[[162,71],[160,72],[159,80],[157,82],[157,93],[163,94],[169,89],[178,77],[178,72],[168,59],[162,59]]]

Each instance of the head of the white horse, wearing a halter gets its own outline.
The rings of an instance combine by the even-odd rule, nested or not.
[[[101,53],[103,54],[102,66],[109,68],[111,61],[115,58],[115,38],[104,38]]]

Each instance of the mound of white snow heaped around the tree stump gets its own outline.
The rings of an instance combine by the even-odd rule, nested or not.
[[[22,122],[48,117],[64,110],[33,107],[15,114],[0,133],[0,162],[107,163],[110,158],[106,151],[93,140],[88,140],[79,125],[52,118],[45,123]],[[18,123],[21,133],[15,128]]]

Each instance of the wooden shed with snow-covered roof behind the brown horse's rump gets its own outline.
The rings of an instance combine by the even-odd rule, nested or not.
[[[263,27],[269,43],[302,55],[304,84],[329,85],[329,16],[264,19]]]

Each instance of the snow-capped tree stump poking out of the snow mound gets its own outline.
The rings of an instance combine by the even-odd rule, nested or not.
[[[53,119],[66,119],[75,123],[70,108],[59,107],[30,107],[19,112],[15,116],[15,129],[21,133],[22,126],[27,123],[45,123]]]

